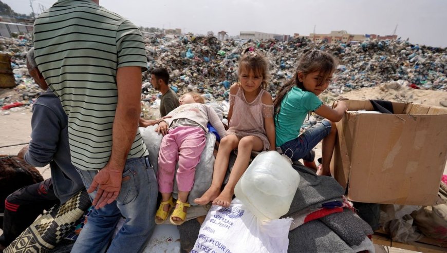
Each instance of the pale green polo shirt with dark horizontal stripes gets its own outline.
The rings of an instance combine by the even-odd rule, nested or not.
[[[118,102],[117,69],[146,70],[138,28],[88,0],[62,0],[36,18],[35,61],[68,115],[71,162],[101,169],[110,158]],[[147,155],[138,125],[127,155]]]

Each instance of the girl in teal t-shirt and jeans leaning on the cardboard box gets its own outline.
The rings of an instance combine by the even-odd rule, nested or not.
[[[332,81],[336,66],[329,53],[317,49],[306,52],[298,62],[293,79],[281,87],[273,103],[276,146],[292,161],[303,159],[304,165],[316,170],[312,148],[323,140],[322,166],[317,174],[325,176],[330,176],[329,163],[336,140],[337,129],[333,122],[340,121],[347,110],[343,101],[332,109],[318,98]],[[311,111],[327,120],[300,134],[304,119]]]

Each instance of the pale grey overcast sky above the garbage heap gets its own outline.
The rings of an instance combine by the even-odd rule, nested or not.
[[[31,13],[30,0],[2,0],[17,13]],[[49,8],[52,0],[32,0]],[[396,34],[412,43],[447,47],[446,0],[100,0],[100,5],[138,26],[181,28],[206,34],[225,30],[278,34],[346,30]]]

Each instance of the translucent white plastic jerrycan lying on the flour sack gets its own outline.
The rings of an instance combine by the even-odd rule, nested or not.
[[[234,187],[234,194],[260,221],[279,219],[290,208],[300,174],[276,151],[259,153]]]

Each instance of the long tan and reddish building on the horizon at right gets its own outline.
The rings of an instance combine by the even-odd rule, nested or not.
[[[397,35],[380,36],[376,34],[350,34],[345,30],[331,31],[329,34],[311,33],[309,39],[313,42],[327,42],[327,43],[349,43],[349,42],[362,42],[365,40],[396,40]]]

